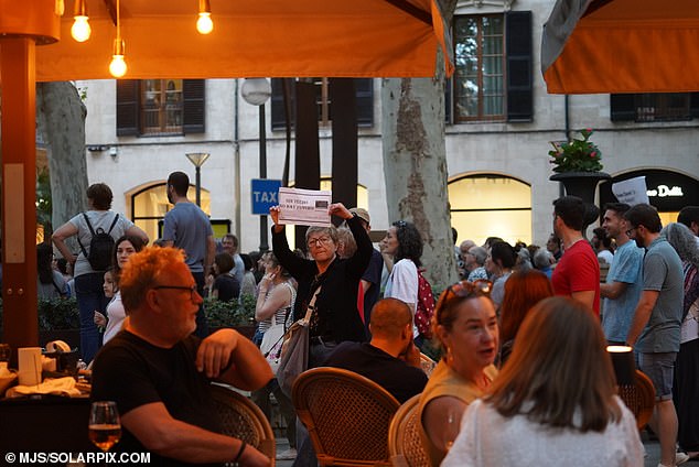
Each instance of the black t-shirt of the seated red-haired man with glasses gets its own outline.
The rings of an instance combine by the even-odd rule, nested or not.
[[[201,339],[190,336],[170,349],[155,347],[128,330],[119,333],[97,354],[93,367],[93,401],[116,401],[120,415],[141,405],[162,402],[182,422],[221,433],[211,397],[211,381],[196,371]],[[114,452],[146,453],[148,449],[122,428]],[[151,453],[154,466],[184,466]],[[218,465],[218,464],[209,464]]]

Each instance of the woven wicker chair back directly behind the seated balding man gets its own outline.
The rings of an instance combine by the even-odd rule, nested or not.
[[[389,465],[388,425],[399,403],[374,381],[340,368],[313,368],[293,383],[297,415],[321,465]]]

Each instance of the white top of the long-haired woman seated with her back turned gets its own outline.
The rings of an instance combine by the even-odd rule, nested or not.
[[[545,427],[526,415],[504,417],[481,400],[461,420],[461,432],[442,467],[534,467],[643,465],[636,420],[621,399],[622,419],[604,432]]]

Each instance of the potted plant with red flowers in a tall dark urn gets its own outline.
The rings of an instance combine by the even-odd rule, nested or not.
[[[611,178],[610,174],[602,172],[602,151],[590,141],[593,131],[591,128],[580,130],[582,139],[570,141],[551,141],[553,149],[549,151],[550,163],[553,164],[553,175],[549,180],[561,182],[566,187],[566,194],[582,198],[587,206],[584,226],[582,232],[592,224],[600,214],[594,205],[594,193],[600,181]]]

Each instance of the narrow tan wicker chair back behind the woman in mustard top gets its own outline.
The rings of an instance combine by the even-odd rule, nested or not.
[[[430,465],[418,424],[420,394],[404,402],[388,427],[388,455],[394,467],[422,467]]]

